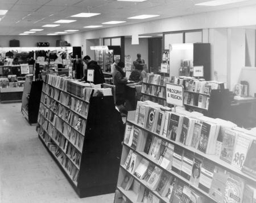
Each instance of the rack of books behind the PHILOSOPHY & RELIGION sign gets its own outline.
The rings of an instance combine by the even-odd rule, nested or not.
[[[227,109],[230,103],[229,92],[224,89],[224,84],[221,82],[183,76],[169,78],[150,73],[142,83],[142,101],[150,100],[163,106],[171,106],[166,103],[166,82],[183,85],[184,106],[190,111],[199,111],[210,117],[217,117],[221,114],[220,111]],[[216,105],[217,100],[221,102],[217,102]]]

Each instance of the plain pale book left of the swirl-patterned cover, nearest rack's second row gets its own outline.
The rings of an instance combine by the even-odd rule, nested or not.
[[[221,202],[224,198],[226,180],[228,175],[223,168],[215,167],[213,173],[212,185],[210,187],[210,197],[217,202]]]

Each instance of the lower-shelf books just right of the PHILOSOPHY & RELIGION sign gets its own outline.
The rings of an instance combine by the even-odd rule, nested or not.
[[[203,94],[194,94],[190,92],[184,92],[184,104],[197,106],[202,109],[208,109],[209,96]]]

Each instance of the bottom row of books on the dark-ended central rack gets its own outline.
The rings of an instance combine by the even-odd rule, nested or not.
[[[79,175],[79,169],[77,169],[77,167],[72,163],[68,156],[56,145],[56,143],[51,142],[51,138],[46,134],[42,126],[38,126],[37,130],[39,136],[46,143],[46,146],[49,148],[52,154],[55,155],[59,163],[63,165],[71,179],[76,183],[77,177]]]

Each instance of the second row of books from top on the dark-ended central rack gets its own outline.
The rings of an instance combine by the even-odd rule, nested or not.
[[[48,94],[50,97],[56,100],[56,102],[53,101],[53,103],[49,103],[49,101],[52,101],[51,98],[45,97],[45,101],[43,102],[44,104],[50,106],[50,108],[54,105],[59,105],[59,103],[61,103],[62,105],[69,107],[71,110],[87,118],[89,103],[86,103],[82,100],[72,97],[71,94],[52,88],[49,85],[46,85],[46,89],[44,90],[44,92],[46,92],[46,94]],[[59,101],[59,103],[57,101]]]

